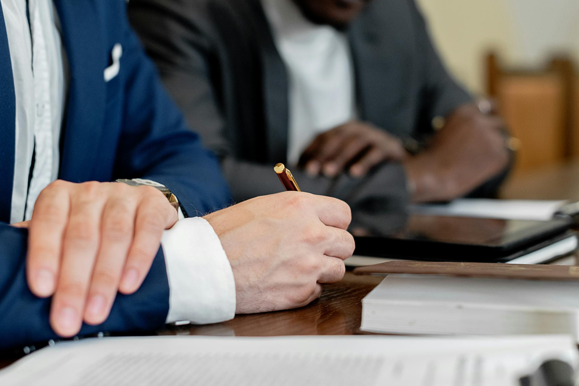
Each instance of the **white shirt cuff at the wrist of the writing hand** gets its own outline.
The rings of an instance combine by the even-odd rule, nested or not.
[[[161,246],[169,280],[167,323],[209,324],[235,316],[233,270],[207,220],[177,221],[163,233]]]

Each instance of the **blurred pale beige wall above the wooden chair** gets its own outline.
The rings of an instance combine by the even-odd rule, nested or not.
[[[417,0],[453,74],[485,90],[483,58],[497,49],[507,64],[540,68],[555,52],[579,61],[578,0]]]

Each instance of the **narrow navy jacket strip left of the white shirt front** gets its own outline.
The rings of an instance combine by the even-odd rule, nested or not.
[[[16,142],[16,95],[6,23],[0,4],[0,221],[10,222]]]

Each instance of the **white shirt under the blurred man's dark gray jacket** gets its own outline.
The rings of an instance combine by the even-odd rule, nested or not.
[[[347,36],[307,20],[292,0],[262,0],[274,43],[289,76],[288,162],[322,132],[356,118],[353,63]]]

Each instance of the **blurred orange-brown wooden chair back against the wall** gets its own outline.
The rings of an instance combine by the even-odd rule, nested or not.
[[[579,123],[579,87],[573,62],[555,57],[544,70],[504,69],[491,53],[486,69],[488,94],[512,135],[521,140],[515,173],[579,156],[579,125],[574,123]]]

